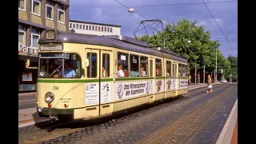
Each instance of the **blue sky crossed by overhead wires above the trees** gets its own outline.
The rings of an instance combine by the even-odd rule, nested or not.
[[[182,18],[192,22],[196,20],[198,25],[205,26],[206,30],[210,30],[211,39],[219,40],[222,44],[220,50],[227,57],[238,54],[238,2],[225,1],[232,0],[205,0],[205,2],[210,2],[206,4],[218,22],[218,26],[224,34],[228,34],[230,46],[234,52],[221,30],[218,29],[205,4],[150,6],[194,3],[202,2],[202,0],[118,0],[128,7],[146,6],[134,7],[134,10],[149,19],[162,19],[167,23],[177,22]],[[118,2],[114,2],[114,0],[70,0],[70,19],[121,25],[121,34],[134,38],[134,31],[138,27],[138,22],[145,18],[135,13],[128,13],[127,8]],[[144,33],[145,30],[140,34]]]

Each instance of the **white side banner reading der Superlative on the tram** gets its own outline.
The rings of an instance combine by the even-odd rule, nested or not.
[[[114,83],[114,101],[143,94],[153,94],[153,80]]]

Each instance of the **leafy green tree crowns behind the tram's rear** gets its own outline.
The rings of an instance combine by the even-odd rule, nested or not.
[[[164,38],[165,48],[181,54],[182,58],[188,61],[190,70],[195,66],[202,70],[203,66],[206,66],[209,73],[214,71],[217,51],[218,70],[223,69],[224,74],[230,72],[230,61],[227,61],[218,49],[221,44],[210,40],[210,31],[206,31],[204,26],[197,26],[196,21],[182,19],[176,24],[169,23],[162,32],[150,37],[144,35],[141,40],[163,47]]]

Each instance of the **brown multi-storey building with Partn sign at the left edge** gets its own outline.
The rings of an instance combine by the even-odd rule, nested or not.
[[[36,90],[38,40],[42,30],[68,31],[70,0],[18,0],[18,91]]]

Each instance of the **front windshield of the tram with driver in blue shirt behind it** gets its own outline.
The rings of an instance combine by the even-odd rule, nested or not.
[[[78,54],[42,53],[38,58],[38,78],[80,78],[81,60]]]

